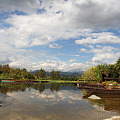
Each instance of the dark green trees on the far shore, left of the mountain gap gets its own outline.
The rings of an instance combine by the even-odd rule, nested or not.
[[[23,68],[12,68],[8,64],[0,65],[0,78],[13,78],[13,79],[53,79],[57,80],[60,78],[60,71],[52,70],[50,72],[50,76],[47,76],[46,71],[44,69],[40,69],[40,71],[36,71],[32,73],[32,71],[28,72],[27,69]]]

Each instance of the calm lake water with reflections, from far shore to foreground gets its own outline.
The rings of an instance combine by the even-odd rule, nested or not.
[[[0,85],[0,120],[102,120],[120,113],[120,98],[83,99],[74,85]]]

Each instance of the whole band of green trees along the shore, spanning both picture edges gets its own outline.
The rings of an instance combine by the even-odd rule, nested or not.
[[[12,68],[9,65],[0,65],[0,78],[11,78],[11,79],[39,79],[39,80],[64,80],[64,81],[77,81],[93,80],[96,82],[102,82],[105,78],[120,78],[120,58],[115,64],[100,64],[96,67],[91,67],[89,70],[83,72],[82,77],[64,77],[60,75],[60,71],[52,70],[50,76],[44,69],[40,69],[36,72],[28,72],[25,68]]]

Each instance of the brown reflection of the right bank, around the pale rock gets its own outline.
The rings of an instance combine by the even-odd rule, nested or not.
[[[86,100],[94,107],[99,107],[107,111],[117,111],[120,114],[120,95],[104,94],[104,93],[89,94],[89,91],[86,90],[82,90],[82,93],[84,96],[87,97],[91,95],[96,95],[101,98],[99,100],[95,100],[95,99],[88,99],[86,97]]]

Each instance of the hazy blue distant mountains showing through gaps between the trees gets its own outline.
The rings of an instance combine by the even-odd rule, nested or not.
[[[36,71],[40,72],[40,70],[35,70],[32,73],[35,73]],[[46,72],[47,76],[50,76],[50,72]],[[64,77],[81,77],[82,76],[83,71],[80,72],[62,72],[60,71],[60,76],[64,76]]]

